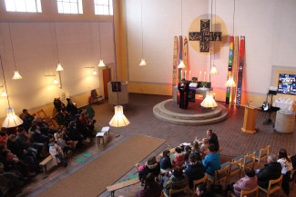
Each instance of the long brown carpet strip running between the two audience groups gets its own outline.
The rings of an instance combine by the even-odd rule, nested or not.
[[[38,196],[98,196],[162,143],[165,141],[136,134]]]

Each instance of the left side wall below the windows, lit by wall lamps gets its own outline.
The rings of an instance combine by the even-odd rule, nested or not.
[[[56,34],[63,88],[52,84],[56,70],[56,38],[54,23],[47,21],[13,22],[11,34],[15,48],[15,62],[21,80],[13,80],[14,62],[9,39],[8,24],[0,23],[0,54],[2,55],[9,100],[17,112],[53,103],[57,94],[70,96],[90,93],[99,87],[98,75],[86,66],[96,66],[99,60],[99,36],[97,22],[58,21]],[[106,64],[114,64],[113,23],[100,22],[102,58]],[[56,71],[54,72],[55,74]],[[57,75],[56,75],[57,77]],[[0,74],[0,80],[2,80]],[[5,116],[7,102],[0,98],[0,116]]]

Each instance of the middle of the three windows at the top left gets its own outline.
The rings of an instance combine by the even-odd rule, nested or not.
[[[83,14],[82,0],[57,0],[57,11],[62,14]]]

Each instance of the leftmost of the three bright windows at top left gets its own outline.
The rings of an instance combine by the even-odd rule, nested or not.
[[[40,0],[5,0],[6,11],[42,13]]]

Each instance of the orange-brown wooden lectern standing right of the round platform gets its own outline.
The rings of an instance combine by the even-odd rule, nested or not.
[[[256,107],[245,106],[245,116],[243,118],[243,127],[241,128],[243,133],[256,133],[257,111],[258,108]]]

